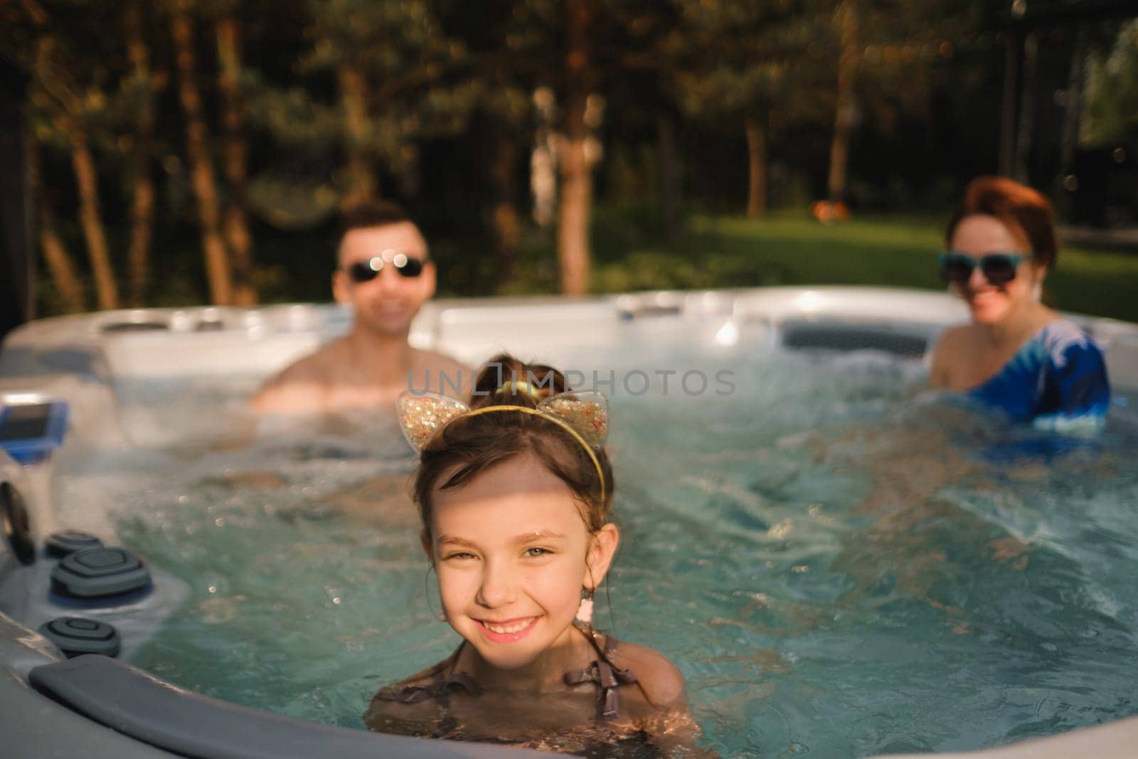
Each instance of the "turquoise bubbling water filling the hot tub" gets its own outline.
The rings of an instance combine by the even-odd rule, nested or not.
[[[918,365],[881,356],[646,365],[726,368],[735,391],[618,385],[624,544],[599,624],[681,667],[706,746],[966,750],[1138,712],[1132,409],[1061,445],[930,398]],[[450,653],[396,435],[92,462],[119,482],[122,542],[192,588],[133,663],[361,727],[376,690]]]

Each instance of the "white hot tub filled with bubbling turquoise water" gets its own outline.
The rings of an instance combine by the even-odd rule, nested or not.
[[[839,757],[1001,745],[1138,712],[1122,684],[1138,673],[1114,659],[1135,629],[1131,597],[1110,579],[1133,555],[1112,531],[1124,518],[1072,493],[1098,528],[1072,547],[1063,503],[1023,503],[1047,489],[1039,468],[1106,472],[1121,482],[1112,498],[1135,479],[1138,328],[1074,317],[1107,348],[1116,407],[1104,440],[1056,445],[920,393],[935,336],[965,317],[948,296],[865,288],[438,300],[412,341],[469,365],[509,349],[612,396],[629,545],[602,626],[677,661],[720,753]],[[349,729],[369,691],[453,636],[432,620],[413,519],[338,515],[410,471],[389,420],[266,442],[245,409],[261,380],[347,325],[338,307],[292,305],[105,312],[9,336],[0,394],[47,439],[19,462],[0,456],[0,727],[20,756],[502,751]],[[67,431],[52,440],[60,413]],[[906,457],[940,479],[900,476]],[[377,472],[388,485],[356,487]],[[101,546],[83,543],[92,536]],[[265,536],[284,547],[262,548]],[[361,579],[374,572],[391,579]],[[984,611],[1021,585],[1022,613]],[[41,628],[117,658],[64,659]],[[313,651],[313,637],[336,653]],[[1103,703],[1057,682],[1096,668],[1113,668]],[[1064,700],[1067,688],[1079,696]],[[822,727],[835,713],[840,725]],[[1003,751],[1075,740],[1106,756],[1136,729]]]

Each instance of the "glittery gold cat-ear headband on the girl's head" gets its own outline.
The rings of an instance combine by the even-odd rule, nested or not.
[[[503,386],[505,387],[505,386]],[[501,388],[500,388],[501,389]],[[517,391],[519,388],[514,388]],[[541,416],[569,432],[572,439],[588,454],[601,481],[601,501],[604,501],[604,470],[596,456],[596,448],[604,445],[609,436],[609,402],[597,391],[559,393],[537,404],[528,406],[483,406],[471,410],[455,398],[435,393],[415,395],[409,390],[399,394],[395,402],[399,416],[399,428],[411,447],[422,452],[436,434],[459,416],[478,416],[493,413],[520,413]]]

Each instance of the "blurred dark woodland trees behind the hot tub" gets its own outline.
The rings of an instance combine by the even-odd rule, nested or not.
[[[643,284],[613,257],[707,215],[943,216],[996,171],[1012,11],[6,0],[41,313],[327,299],[335,216],[371,197],[422,221],[459,295]],[[1069,221],[1138,223],[1138,22],[1053,24],[1026,49],[1020,179]]]

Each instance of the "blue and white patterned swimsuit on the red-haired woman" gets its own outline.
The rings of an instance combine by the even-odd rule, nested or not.
[[[1106,419],[1111,386],[1098,346],[1059,319],[1044,325],[968,396],[1040,429],[1095,431]]]

